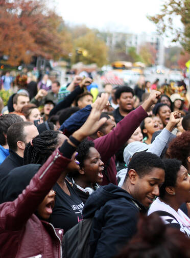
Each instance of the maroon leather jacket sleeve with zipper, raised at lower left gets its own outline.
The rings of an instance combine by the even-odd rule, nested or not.
[[[70,160],[56,149],[17,199],[0,205],[0,228],[20,229],[37,210],[69,162]]]

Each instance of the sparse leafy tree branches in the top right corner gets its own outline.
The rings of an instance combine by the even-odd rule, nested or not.
[[[175,28],[174,19],[180,17],[183,28]],[[168,0],[162,5],[159,14],[148,16],[157,25],[160,33],[172,37],[172,42],[179,42],[190,52],[190,0]]]

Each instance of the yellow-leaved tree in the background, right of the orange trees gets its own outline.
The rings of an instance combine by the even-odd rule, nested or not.
[[[84,64],[96,63],[99,67],[107,63],[107,46],[92,30],[74,41],[74,50],[78,48],[85,51],[85,54],[76,55],[74,51],[73,62]]]

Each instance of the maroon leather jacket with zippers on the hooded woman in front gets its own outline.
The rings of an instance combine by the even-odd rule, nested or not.
[[[0,205],[0,257],[61,258],[63,230],[34,212],[69,162],[55,150],[17,199]]]

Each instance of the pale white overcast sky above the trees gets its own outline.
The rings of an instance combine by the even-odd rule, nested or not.
[[[85,24],[101,31],[156,32],[147,15],[160,12],[167,0],[54,0],[56,11],[66,23]],[[169,0],[168,0],[169,1]],[[179,25],[177,19],[176,25]],[[168,40],[165,41],[170,45]]]

